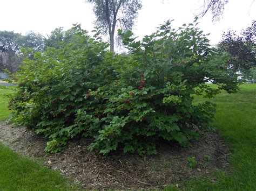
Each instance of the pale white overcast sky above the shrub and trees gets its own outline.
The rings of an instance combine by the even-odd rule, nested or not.
[[[25,34],[28,31],[40,32],[44,36],[56,27],[69,29],[72,24],[82,24],[83,29],[93,30],[95,16],[92,6],[85,0],[0,0],[0,31],[15,31]],[[203,0],[142,0],[143,8],[134,26],[136,36],[151,34],[167,19],[174,19],[173,25],[193,21],[195,13],[203,5]],[[211,33],[211,44],[217,44],[223,31],[240,31],[256,19],[256,1],[230,0],[226,5],[223,19],[211,22],[211,13],[200,19],[200,28]]]

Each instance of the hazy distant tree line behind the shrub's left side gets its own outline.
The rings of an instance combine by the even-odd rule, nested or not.
[[[33,31],[25,35],[14,31],[0,31],[0,72],[5,69],[10,73],[16,72],[25,56],[32,59],[33,53],[43,52],[47,47],[62,48],[64,43],[72,41],[74,33],[73,28],[64,31],[59,27],[46,38]]]

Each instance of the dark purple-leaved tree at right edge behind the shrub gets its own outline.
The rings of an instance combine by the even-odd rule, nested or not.
[[[223,39],[218,45],[220,52],[228,52],[231,55],[228,61],[232,73],[248,75],[250,69],[256,66],[256,21],[250,27],[242,30],[240,36],[234,31],[224,32]]]

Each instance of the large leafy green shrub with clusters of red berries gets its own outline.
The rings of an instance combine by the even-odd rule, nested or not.
[[[215,52],[193,24],[175,30],[167,22],[142,41],[119,31],[127,55],[107,51],[79,25],[71,30],[69,43],[33,53],[14,76],[12,120],[47,137],[46,151],[86,137],[102,154],[118,148],[156,154],[163,140],[187,146],[199,129],[211,128],[215,110],[210,102],[194,105],[193,94],[237,90],[227,55]]]

